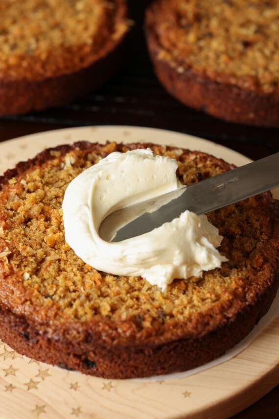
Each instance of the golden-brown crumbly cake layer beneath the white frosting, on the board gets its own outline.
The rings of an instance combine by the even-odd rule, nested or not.
[[[146,147],[176,158],[186,184],[233,167],[180,148],[80,142],[0,178],[0,338],[20,353],[116,379],[183,371],[238,343],[270,307],[279,286],[279,205],[270,193],[210,213],[229,261],[164,293],[94,270],[65,243],[70,180],[110,152]]]

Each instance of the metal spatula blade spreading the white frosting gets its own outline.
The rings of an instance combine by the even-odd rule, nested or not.
[[[197,215],[279,186],[279,153],[193,185],[117,210],[100,225],[100,237],[120,242],[170,222],[189,210]]]

